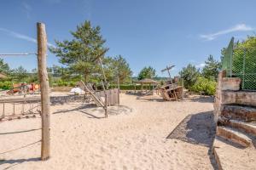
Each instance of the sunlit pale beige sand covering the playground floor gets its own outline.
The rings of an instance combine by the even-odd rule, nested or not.
[[[0,169],[213,169],[209,144],[167,138],[186,116],[212,111],[211,100],[136,97],[121,94],[107,119],[94,105],[51,106],[48,161],[39,160],[39,117],[0,122]]]

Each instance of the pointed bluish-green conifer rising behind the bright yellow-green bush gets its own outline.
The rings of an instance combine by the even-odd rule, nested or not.
[[[217,80],[218,71],[220,70],[221,64],[218,60],[214,60],[213,56],[210,55],[205,61],[205,66],[202,69],[202,76],[207,79]]]

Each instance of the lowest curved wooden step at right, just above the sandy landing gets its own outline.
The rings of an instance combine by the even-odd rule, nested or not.
[[[233,143],[240,144],[243,147],[248,147],[253,144],[252,139],[250,139],[247,135],[230,127],[218,126],[216,135]]]

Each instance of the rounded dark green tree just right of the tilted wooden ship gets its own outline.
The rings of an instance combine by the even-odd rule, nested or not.
[[[190,90],[200,76],[200,72],[195,68],[195,65],[189,64],[186,67],[183,67],[183,70],[179,72],[179,75],[183,78],[184,87]]]

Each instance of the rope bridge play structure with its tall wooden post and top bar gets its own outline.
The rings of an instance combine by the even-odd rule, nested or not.
[[[47,37],[45,31],[45,25],[43,23],[37,23],[38,29],[38,77],[40,85],[41,95],[37,98],[12,98],[12,99],[0,99],[0,104],[3,105],[3,111],[1,115],[1,121],[20,119],[22,117],[36,116],[40,114],[42,119],[42,139],[41,139],[41,160],[47,160],[49,158],[49,142],[50,142],[50,99],[49,99],[49,78],[47,73]],[[0,56],[28,56],[31,54],[0,54]],[[35,88],[35,87],[33,87]],[[16,87],[14,87],[16,89]],[[15,91],[13,89],[13,92]],[[13,105],[13,113],[6,114],[5,107],[11,107]],[[16,108],[20,105],[19,112]],[[28,108],[26,107],[27,105]]]

